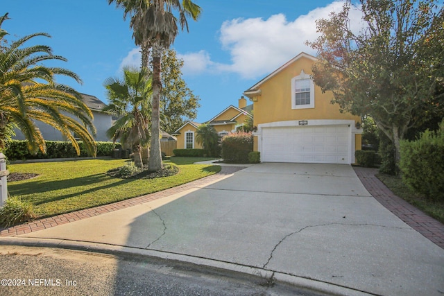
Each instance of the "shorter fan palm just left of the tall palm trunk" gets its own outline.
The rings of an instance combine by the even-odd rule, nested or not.
[[[108,106],[103,111],[118,116],[107,131],[108,137],[123,145],[127,144],[134,153],[135,166],[142,168],[141,150],[149,141],[149,125],[151,118],[151,79],[144,70],[131,67],[123,68],[123,78],[105,80]]]

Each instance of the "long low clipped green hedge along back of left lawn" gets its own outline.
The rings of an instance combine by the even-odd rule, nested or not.
[[[74,146],[69,141],[45,141],[46,154],[38,152],[36,155],[29,153],[26,141],[11,140],[8,142],[8,148],[3,154],[8,160],[25,160],[25,159],[49,159],[49,158],[71,158],[71,157],[88,157],[87,150],[83,142],[79,141],[80,155],[77,155]],[[97,156],[110,156],[114,148],[119,148],[120,144],[112,142],[96,142]]]

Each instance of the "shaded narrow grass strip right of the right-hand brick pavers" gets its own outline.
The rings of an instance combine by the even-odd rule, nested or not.
[[[377,177],[386,184],[388,189],[395,193],[395,195],[398,195],[403,200],[417,207],[425,214],[444,223],[444,201],[430,200],[411,191],[399,176],[378,174]]]

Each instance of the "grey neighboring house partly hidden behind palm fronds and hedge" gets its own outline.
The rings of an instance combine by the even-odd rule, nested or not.
[[[83,102],[89,107],[94,116],[93,125],[96,127],[96,136],[94,139],[96,141],[110,141],[110,138],[106,136],[106,131],[112,125],[112,116],[106,114],[101,110],[105,107],[105,103],[96,98],[95,96],[90,96],[89,94],[81,94],[83,96]],[[62,133],[53,128],[51,125],[42,123],[40,121],[36,122],[37,127],[42,132],[42,136],[47,141],[66,141]],[[16,136],[13,137],[17,140],[24,140],[25,137],[20,130],[16,130]]]

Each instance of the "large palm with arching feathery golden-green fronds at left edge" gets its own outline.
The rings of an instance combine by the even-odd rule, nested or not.
[[[0,17],[0,131],[11,125],[17,126],[28,141],[31,153],[46,146],[35,121],[42,121],[59,130],[71,143],[78,155],[79,145],[74,134],[83,140],[90,155],[96,155],[96,144],[92,134],[92,112],[83,103],[82,96],[67,85],[55,82],[56,75],[74,78],[81,83],[76,73],[58,67],[45,67],[47,60],[65,58],[53,55],[49,46],[24,44],[37,36],[50,37],[46,33],[35,33],[15,42],[6,42],[8,33],[1,29],[8,13]],[[74,115],[74,116],[72,116]]]

